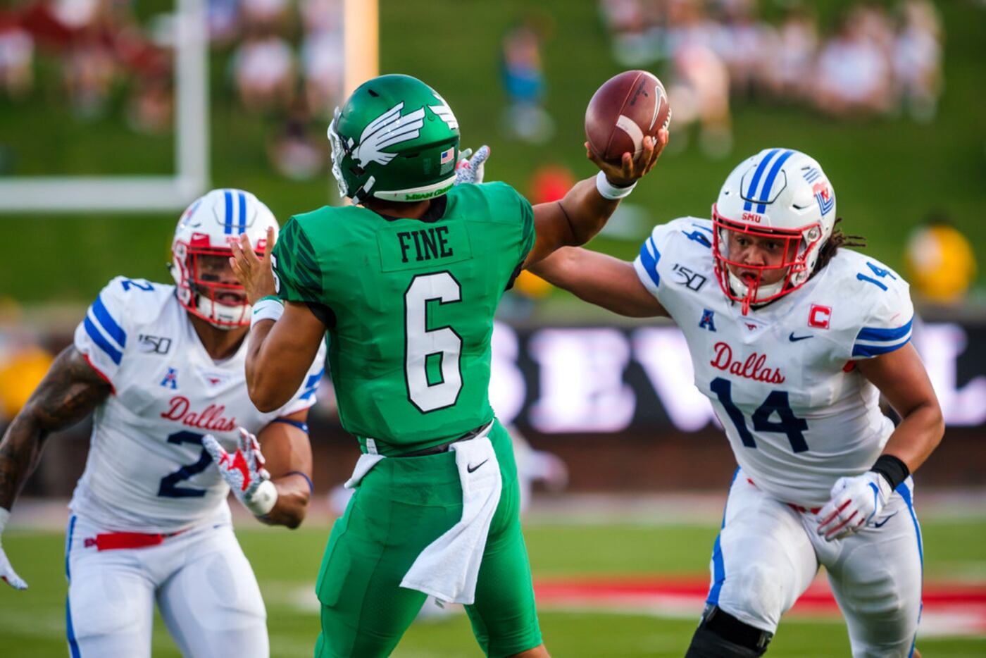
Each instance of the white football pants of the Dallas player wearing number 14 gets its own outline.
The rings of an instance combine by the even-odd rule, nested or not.
[[[912,492],[908,477],[874,526],[826,542],[815,532],[815,514],[768,496],[738,469],[713,548],[708,603],[775,632],[820,564],[849,626],[854,658],[909,656],[921,617],[923,560]]]

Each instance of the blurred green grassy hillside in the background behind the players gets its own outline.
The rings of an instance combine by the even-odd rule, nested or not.
[[[619,70],[609,54],[595,0],[537,3],[553,21],[544,48],[548,109],[557,133],[543,146],[512,142],[499,132],[504,105],[499,84],[500,38],[527,0],[428,3],[381,0],[381,67],[384,72],[420,76],[438,88],[456,109],[463,144],[493,146],[489,179],[522,190],[534,169],[565,164],[590,175],[584,160],[583,109],[599,83]],[[773,11],[771,3],[763,3]],[[826,21],[845,0],[818,5]],[[632,197],[647,217],[637,231],[683,214],[705,215],[734,161],[765,146],[809,151],[823,163],[838,194],[846,228],[870,240],[869,252],[891,266],[901,265],[906,232],[930,209],[944,208],[986,262],[986,224],[977,221],[986,205],[986,15],[977,3],[938,3],[945,19],[947,91],[933,125],[907,118],[841,122],[810,111],[766,102],[735,108],[736,145],[723,162],[710,162],[692,149],[669,155],[652,180]],[[167,6],[158,0],[150,7]],[[151,10],[146,10],[151,13]],[[450,29],[450,26],[456,26]],[[335,196],[327,175],[310,183],[288,182],[267,164],[265,143],[275,123],[246,115],[233,99],[229,50],[211,60],[212,183],[256,192],[280,219],[309,210]],[[83,121],[64,110],[50,65],[38,66],[38,93],[25,104],[0,99],[0,176],[38,174],[141,174],[171,171],[169,136],[135,135],[123,127],[120,111]],[[659,74],[661,65],[652,68]],[[125,89],[114,96],[122,104]],[[9,215],[0,217],[7,251],[0,258],[0,297],[26,302],[88,303],[111,276],[125,273],[166,279],[163,269],[176,213],[135,216]],[[637,239],[600,239],[597,247],[632,256]],[[980,268],[980,283],[983,278]]]

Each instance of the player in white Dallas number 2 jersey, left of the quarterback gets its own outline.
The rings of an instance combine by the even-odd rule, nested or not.
[[[250,307],[229,241],[246,233],[262,245],[271,227],[274,216],[248,192],[195,201],[176,229],[175,285],[112,279],[0,444],[2,532],[47,434],[93,413],[66,540],[72,656],[150,656],[155,602],[185,656],[269,653],[229,483],[264,523],[302,522],[312,469],[305,422],[324,362],[319,351],[279,409],[261,413],[247,397]],[[27,587],[2,548],[0,576]]]

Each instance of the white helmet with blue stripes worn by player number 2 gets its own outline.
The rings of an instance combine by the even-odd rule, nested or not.
[[[219,329],[249,325],[246,292],[227,264],[230,244],[246,233],[257,256],[263,256],[268,227],[276,239],[274,214],[242,189],[213,189],[192,202],[181,213],[172,242],[170,269],[181,306]]]

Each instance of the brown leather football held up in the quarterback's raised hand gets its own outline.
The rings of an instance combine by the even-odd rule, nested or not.
[[[657,76],[624,71],[593,94],[586,108],[586,137],[600,158],[615,164],[627,152],[637,157],[644,149],[644,136],[656,137],[670,118],[668,93]]]

